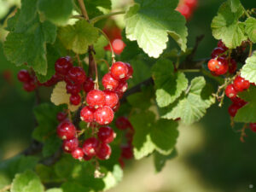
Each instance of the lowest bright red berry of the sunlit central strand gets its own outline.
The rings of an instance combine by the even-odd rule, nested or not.
[[[113,110],[107,106],[97,108],[94,119],[100,125],[108,125],[113,121]]]

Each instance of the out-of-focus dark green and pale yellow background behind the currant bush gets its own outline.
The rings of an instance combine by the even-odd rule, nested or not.
[[[211,20],[218,11],[221,0],[200,0],[194,15],[188,21],[189,46],[195,44],[195,37],[204,34],[196,58],[205,58],[216,47],[212,38]],[[26,94],[16,80],[19,70],[6,61],[2,42],[5,37],[3,25],[5,15],[18,0],[0,0],[0,160],[7,159],[31,142],[35,103],[33,93]],[[129,1],[113,1],[114,7]],[[242,1],[248,8],[255,7],[255,0]],[[29,50],[28,50],[29,51]],[[45,92],[45,90],[40,90]],[[44,94],[46,100],[48,91]],[[151,157],[140,161],[126,162],[124,180],[111,192],[247,192],[256,191],[256,134],[247,131],[246,143],[240,142],[242,125],[230,126],[227,108],[217,105],[207,110],[200,123],[179,128],[177,140],[178,156],[166,163],[160,173],[154,172]]]

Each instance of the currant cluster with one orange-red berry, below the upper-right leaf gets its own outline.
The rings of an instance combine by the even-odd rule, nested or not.
[[[219,76],[229,72],[230,74],[236,73],[236,61],[232,58],[227,58],[226,52],[228,48],[220,40],[218,47],[212,51],[212,59],[208,61],[208,68],[212,75]]]

